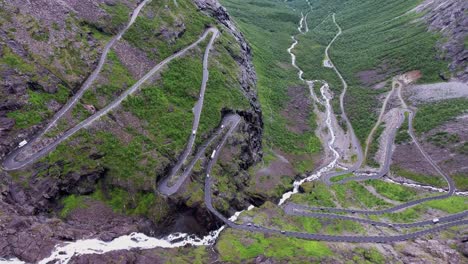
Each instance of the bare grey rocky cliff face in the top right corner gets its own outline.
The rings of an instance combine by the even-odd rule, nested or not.
[[[430,30],[445,37],[439,48],[441,57],[450,61],[450,71],[456,78],[468,82],[468,2],[426,0],[417,10],[426,13],[424,20]]]

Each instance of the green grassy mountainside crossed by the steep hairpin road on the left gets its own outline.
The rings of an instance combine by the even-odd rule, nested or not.
[[[165,5],[169,9],[166,10]],[[153,16],[156,13],[166,14]],[[151,30],[142,30],[142,23],[149,17],[154,21],[144,26]],[[198,22],[191,24],[188,21]],[[186,30],[177,37],[147,35],[162,28],[177,30],[181,23],[186,25]],[[210,52],[210,75],[198,143],[218,126],[222,109],[250,109],[239,81],[240,68],[236,62],[239,43],[214,18],[200,12],[189,0],[179,0],[177,6],[174,1],[152,1],[143,8],[135,26],[128,31],[129,35],[124,36],[134,47],[159,61],[197,40],[209,26],[217,26],[220,35]],[[16,173],[21,175],[17,179],[26,185],[31,179],[29,176],[66,180],[71,175],[98,174],[105,180],[100,181],[97,190],[87,199],[102,200],[115,211],[144,215],[155,222],[167,217],[167,201],[155,193],[155,183],[166,175],[167,168],[175,162],[191,133],[192,108],[199,96],[207,43],[208,40],[200,43],[169,63],[108,116],[78,132],[41,159],[38,164],[42,166]],[[154,50],[158,52],[150,56]],[[109,53],[100,77],[103,80],[82,99],[82,103],[93,104],[98,109],[136,81],[113,51]],[[72,117],[80,120],[90,115],[82,108],[77,104]],[[64,129],[67,124],[59,123],[58,127]],[[53,132],[55,134],[51,135],[57,134],[57,131]],[[63,217],[76,207],[77,199],[81,198],[64,199]]]

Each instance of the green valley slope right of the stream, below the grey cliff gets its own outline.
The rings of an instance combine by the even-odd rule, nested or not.
[[[312,56],[300,58],[304,65],[314,65],[304,68],[308,76],[332,80],[332,89],[340,91],[333,85],[336,80],[329,77],[331,73],[319,67],[323,59],[320,53],[323,54],[330,39],[330,31],[337,32],[326,15],[335,12],[343,34],[331,47],[330,57],[350,85],[346,111],[361,142],[376,121],[375,96],[385,91],[369,86],[409,70],[420,70],[421,82],[441,81],[439,74],[447,72],[446,63],[436,59],[435,46],[440,36],[427,31],[424,22],[418,20],[422,14],[407,13],[420,2],[312,1],[313,11],[308,20],[312,31],[304,37],[306,45],[298,45],[303,54],[310,52]],[[368,70],[376,70],[375,79],[363,83],[359,73]]]

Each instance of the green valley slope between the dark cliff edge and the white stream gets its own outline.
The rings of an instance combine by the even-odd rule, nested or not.
[[[288,87],[301,84],[286,52],[292,43],[290,36],[296,32],[299,21],[297,12],[288,9],[282,1],[255,0],[241,3],[226,0],[221,3],[234,17],[253,48],[258,96],[265,125],[264,145],[297,155],[317,153],[320,142],[314,133],[289,131],[288,120],[281,115],[290,99]],[[314,119],[308,122],[313,130]]]

